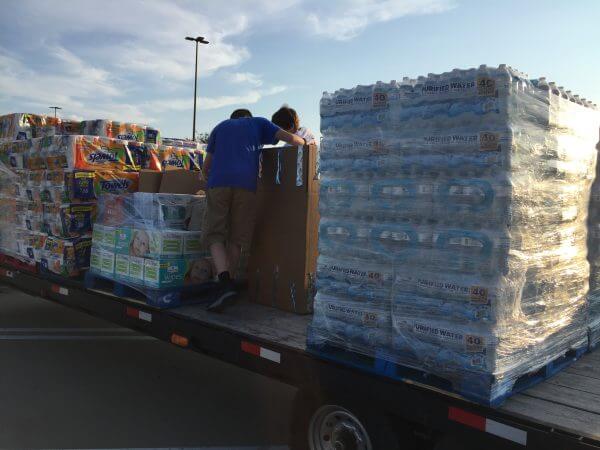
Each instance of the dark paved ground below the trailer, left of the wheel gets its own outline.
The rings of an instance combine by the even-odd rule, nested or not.
[[[286,448],[294,390],[0,285],[0,448]]]

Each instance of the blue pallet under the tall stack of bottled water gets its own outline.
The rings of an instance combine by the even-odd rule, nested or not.
[[[379,349],[366,355],[359,349],[332,344],[309,326],[307,351],[320,359],[332,361],[363,372],[387,377],[396,381],[419,383],[458,395],[485,406],[497,407],[519,392],[524,391],[565,369],[588,351],[587,338],[577,338],[546,358],[545,364],[521,373],[519,368],[505,372],[502,376],[490,373],[462,370],[444,376],[440,371],[430,373],[417,365],[393,362],[403,356],[390,354],[389,349]],[[399,358],[400,356],[400,358]],[[406,356],[406,355],[404,355]]]

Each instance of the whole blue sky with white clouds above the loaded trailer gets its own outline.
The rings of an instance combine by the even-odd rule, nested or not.
[[[319,128],[323,91],[506,63],[600,102],[600,1],[3,0],[0,114],[148,123],[189,137],[236,107],[288,103]]]

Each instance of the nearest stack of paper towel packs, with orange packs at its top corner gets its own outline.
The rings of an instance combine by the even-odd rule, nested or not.
[[[96,201],[137,190],[127,142],[55,135],[0,144],[0,252],[77,276],[89,266]]]

